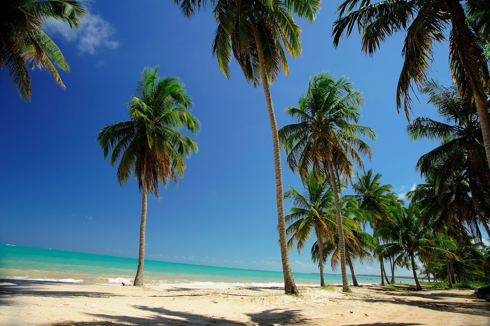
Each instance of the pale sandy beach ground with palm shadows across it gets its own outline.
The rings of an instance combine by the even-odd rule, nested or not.
[[[185,288],[184,286],[189,286]],[[213,289],[204,288],[213,286]],[[323,290],[231,284],[122,285],[0,280],[0,326],[122,325],[481,325],[490,303],[473,291],[421,291],[377,286]]]

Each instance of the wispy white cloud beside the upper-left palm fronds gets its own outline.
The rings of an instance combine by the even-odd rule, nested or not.
[[[62,22],[49,22],[46,25],[48,34],[60,34],[66,41],[76,43],[81,54],[95,54],[99,49],[119,47],[119,42],[112,39],[114,28],[99,15],[90,15],[83,19],[78,30],[71,29]]]

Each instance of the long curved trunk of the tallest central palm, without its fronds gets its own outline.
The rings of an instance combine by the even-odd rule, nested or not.
[[[274,115],[274,107],[272,106],[272,97],[270,96],[269,82],[267,79],[266,64],[264,59],[264,51],[262,49],[262,41],[260,40],[257,25],[253,17],[250,17],[252,24],[253,36],[257,46],[257,55],[259,57],[260,76],[262,79],[262,87],[266,97],[267,112],[269,114],[270,132],[272,133],[272,148],[274,152],[274,172],[276,184],[276,205],[277,205],[277,231],[279,232],[279,247],[281,249],[282,271],[284,274],[284,290],[286,294],[299,294],[298,288],[294,283],[293,272],[291,271],[291,263],[288,253],[288,239],[286,236],[286,220],[284,219],[284,193],[282,187],[282,170],[281,170],[281,151],[279,147],[279,135],[277,134],[277,122]]]

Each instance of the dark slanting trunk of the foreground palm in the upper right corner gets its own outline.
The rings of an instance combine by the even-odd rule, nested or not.
[[[482,49],[476,46],[478,43],[476,35],[469,29],[466,24],[466,15],[463,5],[459,0],[446,0],[447,11],[451,17],[453,30],[457,30],[460,35],[454,45],[457,48],[457,55],[460,57],[460,62],[465,69],[466,76],[473,93],[476,111],[480,119],[480,127],[482,129],[483,143],[485,145],[485,153],[487,154],[487,163],[490,169],[490,120],[488,113],[488,102],[485,90],[481,81],[480,71],[478,66],[483,68],[486,65],[485,57]],[[455,70],[453,70],[455,77]]]

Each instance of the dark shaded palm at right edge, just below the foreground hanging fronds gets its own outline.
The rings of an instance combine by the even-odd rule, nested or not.
[[[417,169],[433,179],[439,202],[444,192],[454,193],[460,189],[459,196],[446,195],[448,201],[441,202],[442,208],[447,210],[449,203],[465,198],[471,214],[467,219],[460,216],[457,220],[478,224],[473,219],[476,217],[490,236],[490,170],[475,105],[470,98],[461,97],[456,85],[446,88],[430,80],[424,83],[421,92],[430,96],[429,103],[437,107],[445,122],[418,117],[407,126],[413,141],[441,142],[420,157]]]

